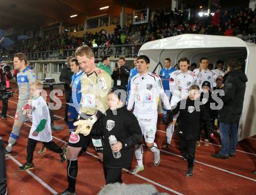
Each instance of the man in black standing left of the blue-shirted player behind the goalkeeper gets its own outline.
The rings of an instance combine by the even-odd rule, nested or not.
[[[67,103],[70,102],[71,88],[72,88],[71,82],[72,82],[73,73],[70,69],[70,62],[72,59],[74,59],[74,56],[67,57],[67,66],[62,68],[61,74],[59,75],[59,81],[65,82],[64,89],[65,89],[65,100],[66,100],[66,105],[65,105],[65,122],[66,122],[66,124],[68,122],[67,111],[69,108],[69,105]]]

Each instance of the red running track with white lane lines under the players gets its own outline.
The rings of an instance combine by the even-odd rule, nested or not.
[[[0,134],[7,144],[9,133],[12,129],[15,115],[17,95],[10,98],[8,108],[8,120],[0,120]],[[64,103],[63,103],[64,106]],[[61,118],[56,124],[65,125],[63,122],[64,107],[55,111],[55,115]],[[56,194],[67,187],[66,163],[61,163],[58,154],[47,150],[43,156],[37,151],[41,143],[37,144],[34,152],[35,169],[29,172],[18,170],[19,163],[26,161],[26,143],[30,130],[30,123],[23,125],[21,135],[15,147],[12,157],[6,160],[8,173],[9,194]],[[54,141],[63,146],[69,138],[67,127],[65,130],[53,133]],[[165,143],[165,127],[158,125],[156,142],[161,149]],[[144,147],[144,168],[138,175],[131,175],[123,171],[125,183],[151,183],[159,192],[169,194],[256,194],[256,175],[251,171],[256,169],[256,136],[239,142],[236,157],[227,160],[212,158],[211,153],[220,149],[219,138],[215,138],[215,145],[200,146],[196,150],[197,163],[194,167],[194,175],[191,178],[185,176],[186,162],[180,157],[177,149],[176,136],[172,139],[170,150],[161,150],[161,164],[153,165],[153,154]],[[133,165],[136,165],[134,158]],[[99,163],[93,147],[88,148],[88,153],[79,157],[79,174],[77,176],[77,194],[97,194],[104,186],[104,174],[102,164]]]

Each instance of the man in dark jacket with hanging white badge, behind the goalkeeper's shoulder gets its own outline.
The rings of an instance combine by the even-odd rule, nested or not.
[[[126,89],[128,78],[130,75],[129,67],[125,66],[125,57],[120,57],[118,60],[118,67],[115,67],[111,75],[114,80],[114,85],[122,86]]]

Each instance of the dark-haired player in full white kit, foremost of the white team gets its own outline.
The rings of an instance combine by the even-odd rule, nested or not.
[[[147,56],[138,56],[138,74],[131,79],[131,91],[127,109],[133,109],[133,104],[135,103],[133,114],[138,119],[147,147],[154,153],[154,165],[158,166],[160,163],[160,151],[157,143],[155,143],[155,133],[157,131],[159,98],[162,99],[166,110],[170,110],[170,104],[163,91],[161,78],[148,72],[149,65],[150,59]],[[142,145],[136,145],[135,156],[138,165],[134,168],[133,174],[144,170]]]

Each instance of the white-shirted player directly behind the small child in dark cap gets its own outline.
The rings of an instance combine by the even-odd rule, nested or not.
[[[214,73],[208,69],[208,62],[209,60],[206,57],[202,57],[200,59],[200,67],[195,68],[193,72],[197,76],[197,82],[195,82],[195,84],[197,84],[199,88],[202,89],[202,83],[204,81],[208,81],[211,84],[212,91],[214,86]]]

